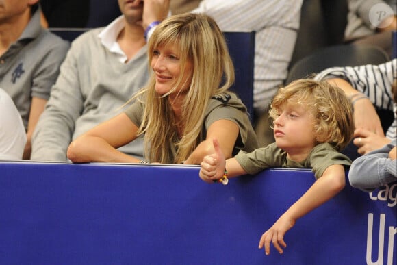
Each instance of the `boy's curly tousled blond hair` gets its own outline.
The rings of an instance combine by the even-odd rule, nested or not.
[[[352,140],[355,125],[353,108],[344,91],[326,81],[299,79],[280,88],[272,99],[270,117],[274,120],[282,105],[292,101],[303,105],[314,118],[318,143],[328,142],[341,151]]]

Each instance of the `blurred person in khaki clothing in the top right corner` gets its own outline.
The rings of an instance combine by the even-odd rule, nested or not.
[[[397,30],[396,0],[348,0],[346,42],[381,47],[392,57],[392,31]]]

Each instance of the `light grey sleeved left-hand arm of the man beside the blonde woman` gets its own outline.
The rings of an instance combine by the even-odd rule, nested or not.
[[[32,137],[31,160],[66,161],[75,121],[84,108],[74,47],[66,55],[60,75]]]

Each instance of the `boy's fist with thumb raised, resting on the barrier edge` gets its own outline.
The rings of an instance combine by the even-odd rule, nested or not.
[[[200,164],[199,176],[207,183],[214,183],[215,180],[223,177],[223,173],[225,173],[225,155],[220,149],[218,140],[214,138],[212,143],[214,144],[214,154],[206,155]]]

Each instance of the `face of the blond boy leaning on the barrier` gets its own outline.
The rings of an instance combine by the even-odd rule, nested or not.
[[[311,113],[303,105],[292,102],[281,105],[278,113],[273,128],[277,147],[288,155],[308,155],[316,145]]]

